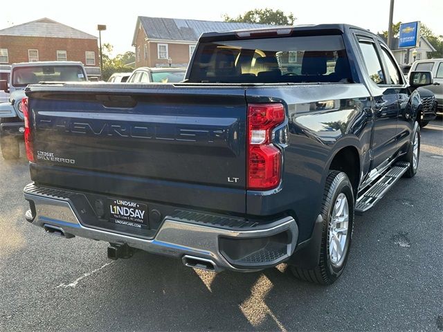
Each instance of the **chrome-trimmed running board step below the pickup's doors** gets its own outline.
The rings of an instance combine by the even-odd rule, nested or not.
[[[386,192],[390,190],[392,185],[403,176],[408,168],[409,163],[406,162],[397,163],[392,166],[368,191],[359,196],[354,208],[355,214],[361,215],[377,204],[377,202],[385,196]]]

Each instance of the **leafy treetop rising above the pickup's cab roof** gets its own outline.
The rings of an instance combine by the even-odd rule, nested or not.
[[[238,15],[237,17],[230,17],[227,14],[223,15],[225,22],[244,22],[244,23],[258,23],[258,24],[272,24],[275,26],[291,26],[296,17],[290,12],[289,15],[284,15],[282,10],[273,10],[271,8],[253,9]]]

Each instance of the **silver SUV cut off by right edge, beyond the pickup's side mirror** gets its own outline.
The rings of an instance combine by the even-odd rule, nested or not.
[[[433,84],[426,86],[426,89],[434,93],[437,113],[443,115],[443,58],[418,60],[410,67],[410,71],[431,71]]]

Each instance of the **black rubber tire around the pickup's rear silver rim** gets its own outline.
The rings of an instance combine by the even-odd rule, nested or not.
[[[345,238],[342,258],[338,261],[338,264],[333,264],[329,254],[329,228],[332,225],[334,205],[340,194],[345,194],[348,204],[347,237]],[[323,230],[318,266],[312,270],[298,268],[297,266],[291,266],[290,268],[293,275],[298,279],[329,285],[334,283],[343,273],[351,246],[352,228],[354,225],[354,194],[352,192],[352,184],[345,173],[338,171],[329,172],[323,194],[321,216],[323,217]]]

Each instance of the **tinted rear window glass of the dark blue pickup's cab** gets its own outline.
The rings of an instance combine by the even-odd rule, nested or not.
[[[341,35],[202,42],[189,82],[352,82]]]

